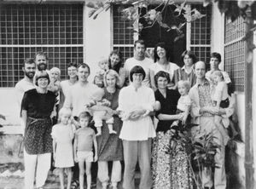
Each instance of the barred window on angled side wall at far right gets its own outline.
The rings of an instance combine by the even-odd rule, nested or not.
[[[241,37],[245,34],[242,18],[234,22],[225,20],[224,37],[224,68],[229,73],[235,91],[244,91],[245,75],[245,42]]]

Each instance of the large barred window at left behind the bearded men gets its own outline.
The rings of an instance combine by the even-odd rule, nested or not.
[[[14,87],[23,61],[38,51],[48,54],[49,68],[67,77],[69,62],[83,62],[81,4],[21,4],[0,7],[0,87]]]

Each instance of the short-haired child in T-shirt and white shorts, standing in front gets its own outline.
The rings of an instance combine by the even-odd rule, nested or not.
[[[75,162],[79,162],[79,185],[84,189],[84,163],[86,167],[87,189],[91,186],[90,167],[93,161],[97,160],[97,142],[96,134],[93,129],[88,127],[90,123],[90,113],[81,112],[79,114],[80,127],[75,132],[73,143],[73,154]],[[92,146],[95,147],[95,156],[93,158]]]

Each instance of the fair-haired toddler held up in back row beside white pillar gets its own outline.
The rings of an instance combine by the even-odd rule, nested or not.
[[[96,72],[96,76],[94,77],[94,83],[99,87],[104,87],[104,74],[109,70],[108,60],[101,60],[98,63],[99,71]]]

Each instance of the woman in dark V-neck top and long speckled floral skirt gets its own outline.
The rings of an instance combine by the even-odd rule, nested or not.
[[[160,101],[161,109],[156,112],[159,122],[153,144],[153,188],[192,188],[187,155],[180,144],[177,144],[176,151],[172,151],[170,144],[172,122],[183,118],[183,114],[175,115],[180,94],[177,90],[167,89],[168,73],[160,71],[154,78],[157,85],[155,100]]]

